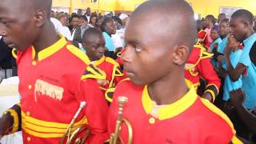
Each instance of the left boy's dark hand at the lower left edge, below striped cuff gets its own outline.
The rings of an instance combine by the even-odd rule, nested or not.
[[[9,134],[13,123],[14,119],[10,116],[10,114],[5,114],[2,116],[2,118],[0,118],[0,139],[6,134]]]

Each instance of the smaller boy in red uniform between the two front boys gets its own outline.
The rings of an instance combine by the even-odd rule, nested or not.
[[[114,87],[123,79],[123,74],[118,62],[104,56],[105,39],[102,32],[95,28],[86,30],[82,38],[82,45],[90,58],[90,63],[106,73],[107,82],[101,86],[104,94],[108,88]],[[107,97],[106,97],[107,98]],[[107,98],[108,101],[110,99]]]

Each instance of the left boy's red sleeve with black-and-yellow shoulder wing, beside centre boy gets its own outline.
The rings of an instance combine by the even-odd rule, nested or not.
[[[90,136],[86,143],[102,144],[108,138],[107,114],[109,108],[97,82],[98,78],[104,79],[104,74],[101,72],[94,66],[87,67],[77,94],[78,102],[86,101],[84,112],[90,127]]]

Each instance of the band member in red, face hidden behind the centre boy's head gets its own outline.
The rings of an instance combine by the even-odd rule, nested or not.
[[[204,47],[194,45],[185,65],[185,78],[193,83],[195,90],[198,90],[200,78],[206,82],[206,90],[203,92],[202,98],[206,98],[210,102],[214,102],[221,85],[218,74],[210,62],[212,55],[206,52]]]

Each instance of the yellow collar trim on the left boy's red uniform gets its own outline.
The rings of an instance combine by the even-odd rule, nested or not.
[[[46,47],[44,50],[38,52],[38,61],[42,61],[50,57],[52,54],[56,53],[58,50],[61,50],[66,45],[66,39],[62,36],[58,42],[55,42],[53,45]],[[34,46],[32,46],[32,57],[35,57]]]

